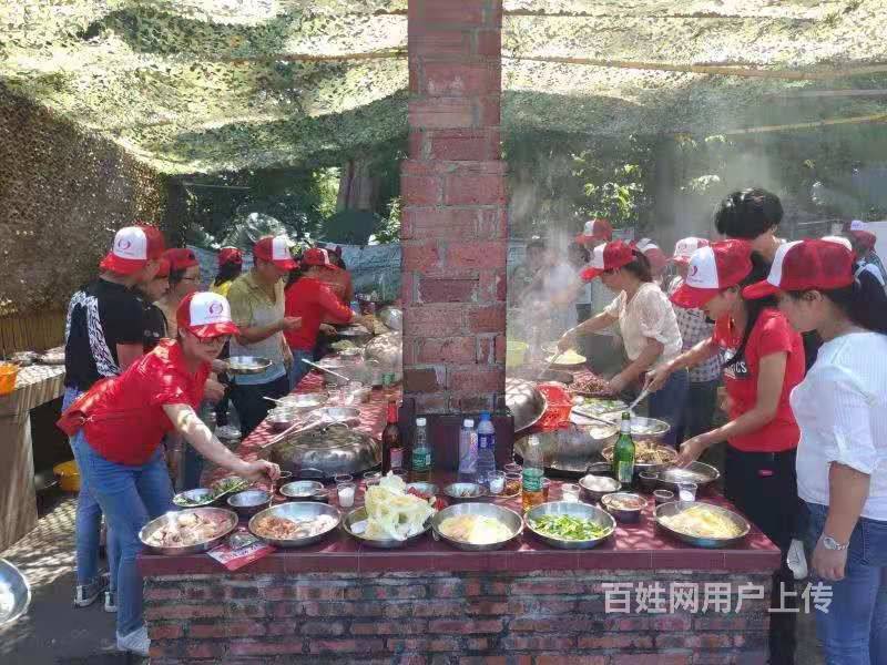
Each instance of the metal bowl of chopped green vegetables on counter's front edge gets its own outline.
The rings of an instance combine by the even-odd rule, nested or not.
[[[560,550],[590,550],[616,529],[606,511],[571,501],[542,503],[530,509],[523,520],[533,536]]]

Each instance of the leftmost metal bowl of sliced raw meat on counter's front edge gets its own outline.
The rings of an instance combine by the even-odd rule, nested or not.
[[[224,508],[167,512],[142,526],[139,540],[156,554],[197,554],[220,544],[237,526],[237,514]]]

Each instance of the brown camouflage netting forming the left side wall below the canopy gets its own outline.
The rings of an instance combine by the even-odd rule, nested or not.
[[[0,317],[63,309],[114,229],[163,221],[165,180],[0,85]]]

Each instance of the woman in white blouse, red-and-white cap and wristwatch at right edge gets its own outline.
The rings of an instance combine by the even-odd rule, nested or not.
[[[823,347],[792,393],[801,427],[798,494],[810,514],[813,571],[832,586],[817,634],[828,665],[887,664],[887,303],[854,278],[828,241],[779,247],[766,282],[801,332]]]

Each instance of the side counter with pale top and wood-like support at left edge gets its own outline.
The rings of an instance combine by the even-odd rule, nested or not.
[[[37,526],[31,410],[64,392],[64,366],[31,365],[0,396],[0,551]]]

